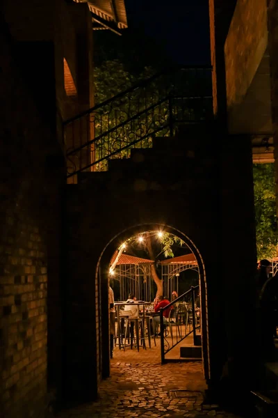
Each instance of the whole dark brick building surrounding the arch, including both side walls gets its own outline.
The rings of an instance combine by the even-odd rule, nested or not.
[[[3,1],[0,396],[6,418],[39,416],[49,393],[63,401],[97,396],[99,380],[109,375],[108,265],[119,240],[149,225],[188,237],[202,265],[208,385],[218,387],[228,370],[232,382],[250,387],[258,359],[250,353],[256,334],[252,141],[261,153],[268,138],[263,147],[270,152],[263,154],[277,164],[276,9],[276,1],[211,0],[215,121],[183,127],[172,142],[171,132],[154,141],[154,150],[131,153],[108,172],[83,173],[79,184],[68,185],[65,153],[72,144],[64,123],[94,105],[92,29],[126,27],[124,2]],[[90,127],[83,132],[94,139]],[[235,249],[238,259],[227,268]]]

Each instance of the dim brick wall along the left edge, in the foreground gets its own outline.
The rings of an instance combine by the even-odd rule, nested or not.
[[[0,403],[5,418],[27,418],[47,393],[47,230],[58,218],[63,160],[2,20],[0,44]]]

